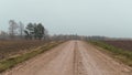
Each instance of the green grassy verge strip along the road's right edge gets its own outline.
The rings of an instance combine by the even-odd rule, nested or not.
[[[116,58],[118,62],[127,64],[132,67],[132,52],[131,51],[114,47],[101,41],[88,41],[88,43],[92,44],[98,50]]]

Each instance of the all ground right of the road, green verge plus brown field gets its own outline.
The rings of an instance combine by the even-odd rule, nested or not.
[[[105,49],[112,57],[132,66],[132,42],[131,41],[89,41],[91,44]]]

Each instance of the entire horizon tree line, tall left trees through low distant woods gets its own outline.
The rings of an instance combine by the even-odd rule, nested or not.
[[[1,31],[0,40],[45,40],[45,41],[67,41],[67,40],[90,40],[94,38],[77,34],[55,34],[50,35],[42,23],[28,23],[9,21],[9,32]],[[99,38],[95,38],[99,39]]]

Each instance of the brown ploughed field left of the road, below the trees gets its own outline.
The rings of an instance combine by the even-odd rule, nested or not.
[[[43,41],[0,41],[0,60],[26,53],[44,44],[45,42]]]

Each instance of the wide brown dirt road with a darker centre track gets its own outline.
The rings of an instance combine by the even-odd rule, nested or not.
[[[132,71],[90,44],[69,41],[2,75],[132,75]]]

